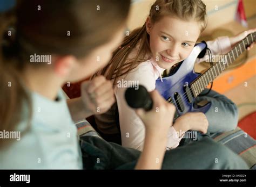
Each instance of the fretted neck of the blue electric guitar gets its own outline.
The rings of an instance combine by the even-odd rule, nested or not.
[[[209,83],[211,83],[218,75],[220,75],[235,59],[238,58],[246,48],[256,41],[256,32],[248,34],[245,39],[239,42],[230,52],[224,55],[224,61],[215,63],[211,68],[207,69],[194,82],[190,84],[192,92],[197,97]]]

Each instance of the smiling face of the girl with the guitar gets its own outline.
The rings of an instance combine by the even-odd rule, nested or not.
[[[200,35],[198,22],[170,16],[165,16],[154,24],[148,18],[146,27],[150,35],[152,57],[164,69],[186,59]]]

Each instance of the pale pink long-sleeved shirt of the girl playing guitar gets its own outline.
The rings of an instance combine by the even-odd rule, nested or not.
[[[211,50],[212,55],[226,54],[231,50],[231,44],[228,37],[219,37],[216,40],[208,41],[207,46]],[[132,52],[129,55],[129,58],[134,54],[136,54],[136,51]],[[204,60],[205,58],[200,59],[197,61],[197,63]],[[112,108],[105,114],[96,116],[96,123],[99,130],[106,134],[118,133],[117,128],[115,127],[115,109],[118,107],[122,146],[142,150],[145,138],[145,126],[134,110],[127,105],[124,93],[127,87],[129,87],[129,84],[130,87],[132,84],[144,85],[147,91],[153,91],[156,88],[157,78],[161,78],[161,74],[164,70],[165,69],[158,66],[154,59],[150,59],[140,63],[128,74],[119,77],[119,84],[117,84],[114,88],[117,105],[113,105]],[[179,145],[179,142],[183,136],[179,138],[178,134],[171,126],[169,128],[167,138],[168,141],[166,149],[173,149]]]

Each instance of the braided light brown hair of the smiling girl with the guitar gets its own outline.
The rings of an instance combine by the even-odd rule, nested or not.
[[[157,0],[151,6],[149,16],[152,24],[164,16],[177,17],[186,21],[195,20],[201,24],[201,32],[205,30],[207,24],[206,6],[201,0]],[[138,47],[136,56],[133,59],[127,60],[127,57],[135,47]],[[114,87],[118,77],[129,73],[140,62],[150,58],[149,34],[146,31],[145,23],[142,27],[136,28],[130,35],[125,37],[122,45],[113,52],[109,64],[102,70],[99,70],[92,78],[99,74],[105,75],[107,79],[113,80]]]

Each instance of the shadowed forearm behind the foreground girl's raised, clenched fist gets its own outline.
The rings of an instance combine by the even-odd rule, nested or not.
[[[86,109],[86,106],[84,105],[81,97],[75,99],[67,99],[67,104],[73,121],[85,119],[93,115],[91,111]]]

